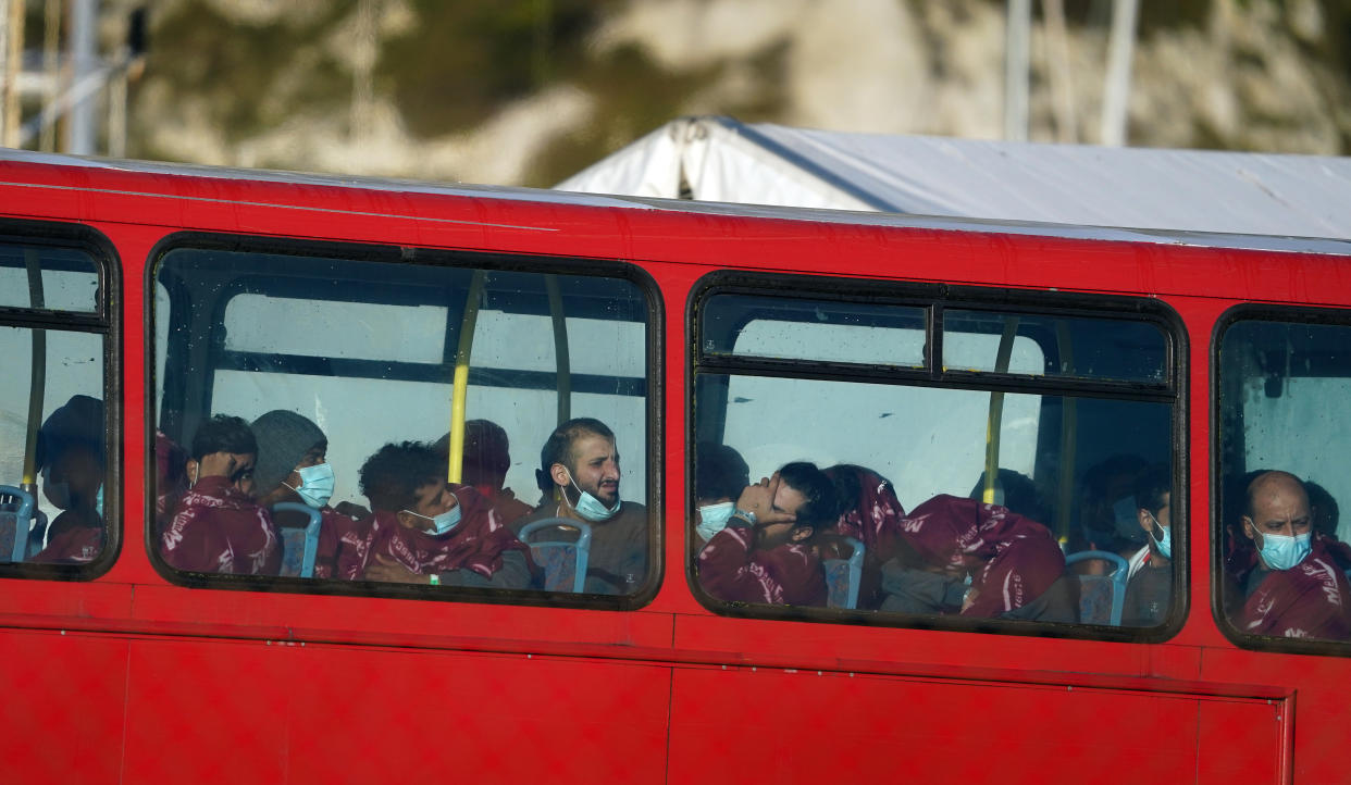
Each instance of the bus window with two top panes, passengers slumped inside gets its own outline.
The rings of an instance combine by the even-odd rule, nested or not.
[[[713,278],[696,299],[689,539],[711,608],[1100,631],[1177,615],[1162,312],[1112,301],[1101,311],[1120,315],[1089,318],[1063,297],[1001,312],[971,307],[979,292],[898,289],[890,315],[873,286],[851,318],[805,282],[750,288]],[[862,322],[866,338],[842,330]],[[916,362],[865,340],[917,347]]]

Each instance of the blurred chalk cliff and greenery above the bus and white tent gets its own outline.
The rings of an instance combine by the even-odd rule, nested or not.
[[[1351,0],[0,0],[3,143],[549,186],[684,115],[1344,154]]]

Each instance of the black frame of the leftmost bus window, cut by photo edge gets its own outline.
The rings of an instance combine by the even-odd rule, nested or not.
[[[113,308],[122,303],[122,258],[116,246],[99,230],[80,223],[0,219],[0,243],[47,246],[86,254],[99,276],[93,311],[0,307],[0,324],[43,328],[54,332],[100,335],[103,343],[103,438],[104,547],[85,563],[3,562],[0,578],[93,581],[112,569],[123,545],[123,381],[122,319]],[[49,522],[50,524],[50,522]]]

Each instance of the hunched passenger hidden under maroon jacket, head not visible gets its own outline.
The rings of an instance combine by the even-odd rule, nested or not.
[[[1078,620],[1078,584],[1065,574],[1065,554],[1040,523],[943,495],[919,505],[901,531],[907,547],[882,566],[884,611]]]

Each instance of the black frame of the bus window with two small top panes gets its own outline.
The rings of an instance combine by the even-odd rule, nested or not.
[[[777,296],[801,300],[859,301],[869,305],[894,304],[920,307],[925,315],[925,351],[921,369],[889,366],[867,370],[859,363],[832,363],[819,361],[788,361],[762,358],[704,358],[701,354],[701,304],[717,295]],[[1161,384],[1136,381],[1096,380],[1085,377],[1052,377],[1027,374],[997,374],[993,372],[944,370],[942,368],[942,311],[978,309],[1008,313],[1036,313],[1047,316],[1086,318],[1094,320],[1121,319],[1154,323],[1165,340],[1165,378]],[[977,286],[912,282],[875,278],[844,278],[839,276],[812,276],[786,273],[755,273],[716,270],[698,278],[686,299],[686,345],[692,351],[686,358],[685,400],[690,415],[686,417],[685,459],[685,582],[700,605],[720,616],[740,619],[767,619],[788,622],[816,622],[869,627],[913,630],[943,630],[954,632],[992,632],[1000,635],[1075,638],[1093,640],[1120,640],[1135,643],[1162,643],[1175,636],[1190,613],[1190,559],[1188,540],[1192,527],[1188,503],[1189,467],[1189,336],[1186,324],[1177,311],[1161,297],[1051,292],[1017,289],[1011,286]],[[735,369],[735,370],[734,370]],[[1182,588],[1169,609],[1165,622],[1155,627],[1109,627],[1094,624],[1055,624],[1050,622],[1023,622],[1004,619],[963,619],[959,616],[908,616],[869,609],[790,608],[784,605],[747,605],[723,603],[704,592],[694,565],[694,454],[700,419],[696,400],[697,377],[701,373],[724,376],[742,374],[808,378],[820,381],[878,382],[897,386],[929,386],[946,389],[975,389],[981,392],[1056,395],[1061,397],[1108,397],[1171,403],[1170,443],[1173,482],[1171,505],[1177,520],[1173,539],[1173,585]],[[716,405],[716,404],[715,404]],[[727,401],[721,401],[723,411]]]

